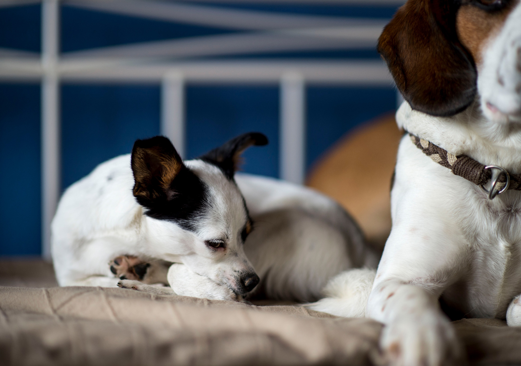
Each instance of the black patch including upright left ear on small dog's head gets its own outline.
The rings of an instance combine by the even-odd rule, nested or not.
[[[132,148],[134,197],[155,219],[194,230],[193,219],[207,203],[205,184],[182,162],[168,138],[137,140]]]

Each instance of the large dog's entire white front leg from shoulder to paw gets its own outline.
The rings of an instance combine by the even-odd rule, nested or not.
[[[380,345],[394,365],[465,364],[438,302],[467,274],[472,253],[462,228],[468,214],[462,199],[472,186],[454,185],[453,177],[402,138],[391,192],[393,226],[367,301],[367,316],[386,325]]]

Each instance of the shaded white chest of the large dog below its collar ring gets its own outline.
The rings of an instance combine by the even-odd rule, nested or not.
[[[521,294],[521,192],[493,201],[477,192],[465,209],[467,317],[504,318],[512,298]]]

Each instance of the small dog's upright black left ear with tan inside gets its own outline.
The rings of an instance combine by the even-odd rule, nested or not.
[[[134,197],[151,207],[157,201],[168,201],[176,194],[171,184],[184,167],[181,157],[168,138],[156,136],[137,140],[130,160],[134,174]]]

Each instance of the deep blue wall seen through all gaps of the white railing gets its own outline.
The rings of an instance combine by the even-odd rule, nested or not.
[[[311,4],[210,4],[226,8],[388,19],[395,7]],[[0,47],[40,52],[40,5],[0,8]],[[140,19],[61,7],[61,51],[230,33],[236,30]],[[378,58],[375,49],[219,56],[242,59]],[[159,133],[158,85],[63,85],[62,188],[98,163],[130,152],[136,138]],[[310,168],[342,135],[395,108],[388,88],[309,86]],[[196,157],[247,131],[270,144],[244,154],[246,172],[278,176],[279,92],[276,86],[187,86],[187,156]],[[0,84],[0,256],[40,254],[40,86]]]

